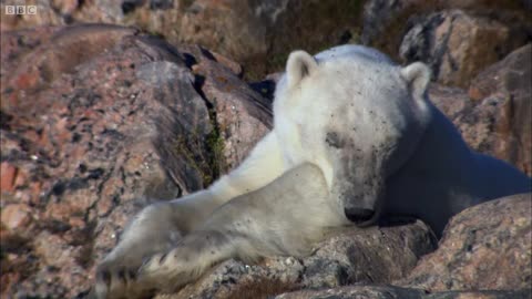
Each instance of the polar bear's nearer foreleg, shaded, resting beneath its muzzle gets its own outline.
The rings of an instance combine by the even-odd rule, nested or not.
[[[348,224],[342,218],[319,168],[305,164],[218,208],[173,249],[153,256],[137,283],[171,292],[229,258],[307,255],[330,228]]]

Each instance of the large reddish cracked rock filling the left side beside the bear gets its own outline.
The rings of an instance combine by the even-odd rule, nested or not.
[[[272,123],[235,62],[131,28],[12,31],[1,48],[2,298],[84,296],[132,215],[204,188]]]

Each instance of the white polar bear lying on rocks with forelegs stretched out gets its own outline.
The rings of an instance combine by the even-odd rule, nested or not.
[[[329,230],[417,216],[441,234],[460,210],[530,192],[468,148],[428,100],[430,71],[361,45],[293,52],[274,128],[205,190],[144,208],[98,267],[98,298],[173,291],[228,258],[303,256]]]

